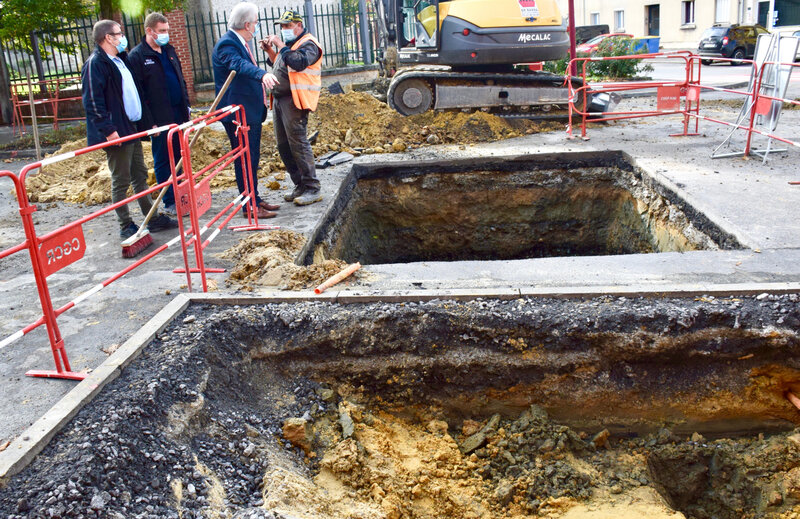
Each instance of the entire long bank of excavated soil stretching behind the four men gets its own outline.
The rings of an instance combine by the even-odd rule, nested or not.
[[[428,112],[403,117],[371,94],[352,92],[323,95],[319,107],[310,117],[309,134],[318,131],[314,154],[328,151],[362,153],[401,152],[409,147],[438,144],[471,144],[518,137],[525,134],[562,129],[557,123],[526,120],[505,120],[491,114],[462,112]],[[64,144],[53,155],[79,150],[86,139]],[[145,164],[153,164],[150,143],[143,142]],[[204,129],[192,151],[194,171],[210,164],[230,150],[223,131]],[[149,183],[155,183],[153,169]],[[287,189],[283,162],[278,155],[271,122],[263,126],[259,177],[269,189]],[[236,185],[230,166],[214,178],[212,190]],[[96,151],[63,162],[48,165],[30,175],[26,189],[31,202],[70,202],[104,204],[111,201],[111,173],[103,151]],[[154,197],[155,198],[155,197]]]

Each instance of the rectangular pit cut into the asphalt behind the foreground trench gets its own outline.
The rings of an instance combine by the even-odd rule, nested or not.
[[[738,248],[622,152],[353,166],[302,262],[509,260]]]

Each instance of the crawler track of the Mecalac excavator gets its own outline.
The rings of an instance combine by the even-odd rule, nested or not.
[[[581,80],[572,79],[580,86]],[[455,71],[421,65],[400,70],[387,92],[389,106],[403,115],[428,110],[481,110],[500,117],[566,120],[564,76],[545,72]]]

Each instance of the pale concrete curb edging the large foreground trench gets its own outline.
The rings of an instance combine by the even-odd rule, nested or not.
[[[338,291],[316,295],[313,291],[273,292],[256,296],[230,294],[181,294],[167,303],[152,319],[142,326],[117,351],[61,400],[44,416],[36,420],[16,438],[5,451],[0,452],[0,488],[8,479],[28,466],[50,442],[50,440],[88,404],[106,384],[117,378],[157,333],[166,328],[191,304],[241,305],[266,303],[296,303],[320,301],[338,304],[372,302],[402,303],[448,299],[469,301],[473,299],[512,300],[520,297],[550,297],[582,299],[599,296],[615,297],[695,297],[702,295],[732,296],[758,295],[761,293],[800,293],[797,283],[737,283],[728,285],[684,284],[665,285],[653,290],[645,285],[613,287],[552,287],[525,289],[481,289],[481,290],[400,290],[400,291]]]

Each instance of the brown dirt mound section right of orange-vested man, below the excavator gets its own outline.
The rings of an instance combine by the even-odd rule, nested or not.
[[[331,150],[386,153],[424,144],[490,142],[562,126],[484,112],[431,111],[404,117],[366,92],[322,96],[309,119],[310,131],[319,131],[317,154]]]

